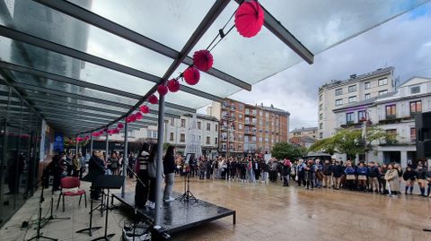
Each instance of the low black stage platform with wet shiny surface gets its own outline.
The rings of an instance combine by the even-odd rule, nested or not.
[[[175,193],[175,196],[181,194]],[[135,207],[135,193],[126,193],[122,198],[121,194],[113,196],[127,205],[128,208]],[[154,221],[155,211],[150,209],[139,209],[137,213],[140,217]],[[172,234],[181,230],[196,227],[200,224],[210,222],[216,219],[222,219],[227,216],[233,216],[233,225],[236,223],[236,211],[219,207],[216,204],[198,200],[198,202],[163,202],[162,208],[162,230]]]

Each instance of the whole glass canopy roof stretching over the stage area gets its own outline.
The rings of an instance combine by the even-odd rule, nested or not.
[[[68,134],[111,125],[131,113],[158,83],[192,64],[194,51],[205,49],[242,3],[0,1],[3,78],[49,124]],[[259,1],[265,27],[250,39],[233,29],[211,51],[214,66],[201,73],[200,82],[181,82],[179,92],[166,96],[166,116],[195,112],[251,90],[252,84],[302,60],[312,64],[313,55],[427,2]],[[232,26],[233,20],[227,23]],[[151,113],[132,128],[157,123],[157,106],[150,107]]]

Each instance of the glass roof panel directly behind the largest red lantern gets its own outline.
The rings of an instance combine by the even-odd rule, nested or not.
[[[199,49],[207,48],[237,7],[238,4],[231,1],[189,55]],[[233,21],[226,29],[231,26]],[[266,28],[262,28],[253,38],[243,38],[236,29],[233,29],[211,53],[214,56],[215,68],[249,83],[259,82],[301,61],[290,47]]]

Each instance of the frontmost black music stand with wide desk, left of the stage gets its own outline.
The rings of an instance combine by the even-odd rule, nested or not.
[[[105,217],[105,234],[102,237],[97,237],[92,239],[96,240],[110,240],[115,234],[108,235],[108,213],[110,211],[110,189],[120,189],[123,186],[126,176],[116,176],[116,175],[102,175],[97,176],[92,182],[93,188],[107,189],[106,194],[106,217]]]

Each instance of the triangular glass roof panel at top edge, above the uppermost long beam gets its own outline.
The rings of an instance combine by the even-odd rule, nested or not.
[[[87,10],[117,22],[177,51],[186,44],[215,1],[181,0],[71,0]]]

